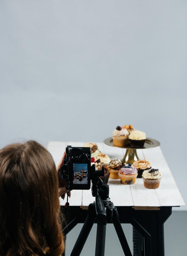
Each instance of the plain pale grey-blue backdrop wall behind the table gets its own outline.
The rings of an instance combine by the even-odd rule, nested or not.
[[[187,202],[186,9],[182,0],[1,0],[0,146],[103,141],[130,123],[160,141]]]

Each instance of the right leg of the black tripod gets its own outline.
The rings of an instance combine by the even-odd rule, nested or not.
[[[115,228],[118,238],[120,240],[120,243],[121,243],[121,246],[122,246],[125,256],[132,256],[132,253],[130,251],[128,242],[126,240],[125,234],[123,232],[123,229],[122,229],[122,226],[121,226],[121,223],[119,220],[119,215],[118,215],[116,207],[114,207],[112,210],[112,222],[114,224],[114,228]]]

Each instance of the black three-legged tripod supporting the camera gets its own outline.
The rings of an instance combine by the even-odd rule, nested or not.
[[[92,180],[92,195],[93,197],[95,197],[95,201],[88,206],[88,216],[73,247],[71,256],[80,255],[96,218],[97,235],[95,256],[105,255],[105,236],[107,221],[113,222],[124,254],[126,256],[132,256],[119,220],[117,208],[114,206],[109,198],[109,185],[103,184],[103,181],[99,177],[95,176],[94,180]]]

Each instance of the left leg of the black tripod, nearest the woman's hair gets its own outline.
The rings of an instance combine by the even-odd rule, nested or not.
[[[83,225],[83,227],[80,231],[80,234],[76,240],[76,243],[73,247],[71,256],[79,256],[80,255],[82,248],[84,247],[84,244],[86,243],[88,235],[90,234],[90,231],[95,222],[95,219],[96,219],[95,205],[90,204],[88,207],[88,216],[84,222],[84,225]]]

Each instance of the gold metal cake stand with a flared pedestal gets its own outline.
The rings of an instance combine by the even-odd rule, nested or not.
[[[104,143],[108,146],[114,147],[112,137],[105,139]],[[154,148],[154,147],[158,147],[158,146],[160,146],[160,142],[156,141],[155,139],[151,139],[151,138],[147,138],[145,140],[145,144],[143,147],[132,148],[130,146],[126,146],[126,147],[124,147],[124,148],[126,148],[126,153],[125,153],[124,158],[122,159],[122,162],[128,163],[128,164],[129,163],[133,164],[134,161],[139,159],[139,157],[137,156],[137,151],[136,151],[137,149]]]

